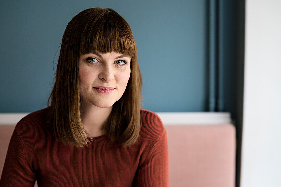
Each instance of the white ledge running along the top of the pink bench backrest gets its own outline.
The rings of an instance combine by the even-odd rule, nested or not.
[[[230,112],[155,112],[163,124],[232,123]],[[0,124],[15,125],[29,113],[0,113]]]

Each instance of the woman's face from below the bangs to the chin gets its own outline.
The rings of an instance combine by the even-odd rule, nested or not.
[[[130,78],[131,57],[111,53],[89,53],[80,56],[79,78],[82,102],[97,107],[111,107],[125,92]],[[126,64],[127,63],[127,64]],[[99,93],[94,87],[113,87],[109,94]]]

